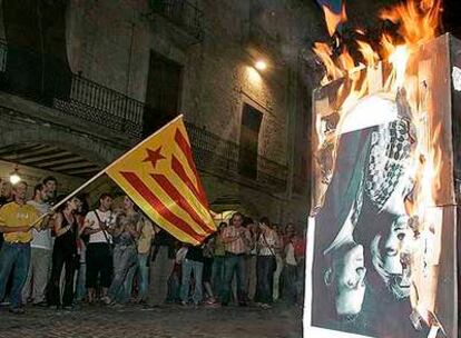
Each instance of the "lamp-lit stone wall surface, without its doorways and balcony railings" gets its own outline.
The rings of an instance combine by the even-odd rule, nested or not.
[[[307,209],[307,191],[292,193],[292,187],[296,183],[294,175],[305,165],[296,159],[308,152],[310,118],[304,115],[310,111],[304,107],[304,115],[300,115],[300,102],[310,102],[313,81],[311,73],[300,76],[301,63],[306,62],[300,56],[325,36],[322,11],[315,1],[302,0],[192,2],[204,13],[202,41],[188,39],[187,31],[150,16],[147,0],[69,1],[66,36],[72,72],[145,101],[153,50],[184,67],[178,106],[186,120],[233,142],[239,140],[244,103],[256,107],[263,112],[258,152],[288,167],[287,189],[272,196],[204,173],[209,200],[230,196],[242,206],[249,206],[254,216],[268,215],[276,221],[302,219]],[[366,8],[359,6],[354,10],[366,13]],[[256,59],[265,60],[268,68],[256,71]],[[307,83],[303,87],[306,90],[297,90],[300,81]],[[98,126],[88,125],[88,133],[109,138]],[[4,130],[0,142],[7,145],[22,138],[59,141],[105,163],[124,148],[120,141],[110,147],[104,138],[86,138],[61,127],[47,129],[37,123],[26,132]],[[305,145],[296,146],[300,142]],[[131,146],[127,142],[125,148]]]

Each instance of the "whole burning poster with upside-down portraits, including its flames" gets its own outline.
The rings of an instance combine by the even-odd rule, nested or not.
[[[421,22],[404,43],[383,36],[386,62],[351,71],[345,47],[316,46],[331,81],[313,96],[307,336],[458,337],[459,42],[434,39],[439,6],[385,12]]]

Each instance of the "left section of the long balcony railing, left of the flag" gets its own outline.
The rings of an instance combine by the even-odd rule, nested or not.
[[[0,43],[0,89],[131,138],[141,137],[143,102],[72,73],[56,57]]]

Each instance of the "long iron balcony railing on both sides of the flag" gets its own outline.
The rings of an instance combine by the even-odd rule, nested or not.
[[[133,139],[143,137],[144,115],[153,113],[150,107],[60,64],[45,56],[0,44],[0,90],[88,121],[92,125],[89,129],[101,126]],[[24,71],[30,68],[35,71]],[[245,177],[239,172],[237,143],[193,123],[186,123],[186,128],[198,169],[248,185],[256,182],[271,192],[285,191],[287,169],[284,165],[257,156],[255,177]]]

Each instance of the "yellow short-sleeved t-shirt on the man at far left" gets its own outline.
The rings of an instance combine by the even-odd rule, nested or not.
[[[29,205],[9,202],[0,208],[0,226],[8,228],[30,226],[39,217],[37,209]],[[7,242],[30,242],[32,240],[32,231],[3,233],[3,238]]]

